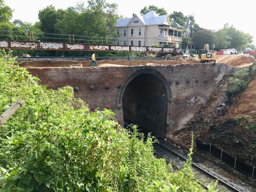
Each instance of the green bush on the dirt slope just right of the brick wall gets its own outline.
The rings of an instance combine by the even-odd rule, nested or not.
[[[226,94],[228,95],[236,95],[237,93],[243,92],[249,82],[245,82],[244,80],[230,77],[228,79],[229,87],[226,90]]]

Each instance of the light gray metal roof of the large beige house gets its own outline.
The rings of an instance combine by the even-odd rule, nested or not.
[[[150,11],[145,15],[136,15],[144,25],[159,25],[164,24],[167,15],[158,16],[155,12]],[[133,18],[133,17],[132,17]],[[116,27],[125,27],[132,20],[132,18],[117,19]]]

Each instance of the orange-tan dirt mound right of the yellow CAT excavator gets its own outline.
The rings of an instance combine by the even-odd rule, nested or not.
[[[217,55],[217,63],[226,63],[226,65],[234,67],[247,67],[252,65],[254,57],[252,56],[243,56],[243,55]]]

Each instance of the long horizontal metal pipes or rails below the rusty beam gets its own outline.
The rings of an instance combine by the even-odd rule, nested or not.
[[[16,61],[36,61],[36,60],[52,60],[52,61],[90,61],[91,57],[18,57]],[[111,61],[134,61],[134,60],[153,60],[163,61],[166,58],[162,57],[96,57],[97,61],[111,60]]]

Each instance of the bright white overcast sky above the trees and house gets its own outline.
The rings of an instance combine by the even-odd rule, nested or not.
[[[38,11],[47,5],[53,5],[56,9],[66,9],[74,6],[77,1],[66,0],[5,0],[5,4],[14,9],[13,20],[20,19],[26,22],[35,23],[38,21]],[[87,6],[87,1],[85,2]],[[156,0],[106,0],[108,3],[118,4],[118,13],[124,17],[132,17],[133,13],[139,14],[144,6],[155,5],[159,8],[164,7],[168,14],[173,11],[181,11],[184,15],[195,14],[196,23],[206,29],[220,29],[224,24],[234,25],[239,30],[250,33],[254,36],[256,44],[255,27],[255,1],[237,1],[237,0],[215,0],[215,1],[156,1]],[[192,3],[192,4],[191,4]]]

